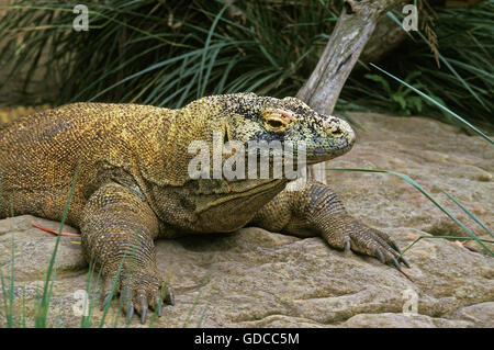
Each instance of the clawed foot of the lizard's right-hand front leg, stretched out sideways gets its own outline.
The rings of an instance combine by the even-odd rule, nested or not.
[[[401,256],[398,246],[390,236],[378,229],[352,223],[344,233],[328,233],[323,236],[332,247],[374,257],[382,263],[392,264],[398,271],[402,269],[402,262],[409,268],[408,261]]]

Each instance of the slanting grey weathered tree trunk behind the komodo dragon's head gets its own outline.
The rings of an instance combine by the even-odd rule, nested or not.
[[[346,0],[335,30],[308,80],[296,97],[315,111],[332,114],[345,81],[353,69],[379,19],[404,0]],[[325,163],[314,166],[311,177],[326,182]],[[313,167],[313,168],[314,168]]]

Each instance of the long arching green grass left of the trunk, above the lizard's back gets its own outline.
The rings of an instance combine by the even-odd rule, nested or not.
[[[325,1],[307,2],[301,11],[291,1],[183,7],[180,1],[114,0],[88,7],[90,30],[74,32],[67,25],[70,5],[16,2],[0,25],[10,38],[0,60],[14,61],[12,77],[34,71],[41,60],[32,57],[42,57],[50,42],[43,80],[55,76],[67,82],[55,104],[98,100],[180,106],[203,94],[291,94],[317,63],[313,44],[323,46],[322,33],[336,22]]]

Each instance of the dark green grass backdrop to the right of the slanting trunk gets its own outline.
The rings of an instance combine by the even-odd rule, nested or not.
[[[389,15],[395,20],[396,25],[401,25],[404,15],[400,11],[390,12]],[[385,79],[389,89],[381,81],[366,78],[366,75],[377,74],[372,67],[367,66],[366,69],[350,75],[341,92],[339,108],[393,111],[404,115],[423,114],[464,127],[462,123],[450,118],[449,113],[438,111],[430,104],[430,100],[424,97],[420,97],[422,101],[418,103],[422,103],[422,106],[418,108],[414,101],[406,104],[396,103],[393,95],[403,89],[403,86],[391,75],[407,77],[411,72],[418,72],[413,81],[407,82],[419,84],[419,89],[423,88],[435,101],[448,105],[465,120],[482,123],[492,131],[493,24],[494,1],[438,12],[434,20],[437,44],[430,43],[424,29],[408,32],[409,35],[400,49],[379,63],[379,66],[390,74],[388,78],[391,79]],[[431,50],[431,47],[435,49]]]

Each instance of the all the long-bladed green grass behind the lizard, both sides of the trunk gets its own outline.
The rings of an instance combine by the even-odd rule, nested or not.
[[[26,78],[19,102],[25,104],[22,92],[29,91],[40,67],[45,72],[37,83],[48,88],[48,81],[57,81],[64,87],[55,100],[40,101],[52,105],[121,101],[182,106],[205,94],[239,91],[294,95],[315,67],[340,9],[333,11],[329,0],[195,0],[187,7],[180,1],[111,0],[87,5],[88,32],[72,31],[72,5],[63,1],[33,5],[18,0],[2,19],[5,49],[0,61],[12,65],[4,81]],[[396,25],[403,18],[400,11],[390,15]],[[494,1],[441,11],[434,21],[437,43],[429,43],[426,23],[425,34],[409,32],[380,66],[396,77],[420,71],[411,84],[424,87],[468,121],[492,124],[493,23]],[[419,113],[456,122],[390,77],[378,81],[374,69],[359,66],[367,69],[351,74],[338,111]],[[15,103],[9,98],[0,102]]]

